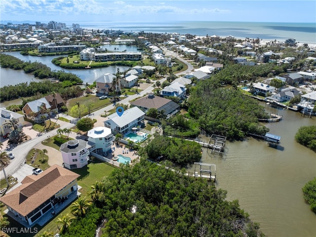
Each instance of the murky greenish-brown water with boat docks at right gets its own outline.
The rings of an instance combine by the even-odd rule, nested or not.
[[[266,236],[315,237],[316,214],[305,203],[302,188],[316,176],[316,153],[294,136],[301,126],[316,125],[316,117],[261,104],[268,113],[283,116],[266,124],[269,133],[281,136],[276,148],[255,138],[226,142],[223,156],[203,148],[201,162],[216,164],[217,187],[228,191],[228,200],[238,199]],[[208,142],[209,137],[200,140]]]

